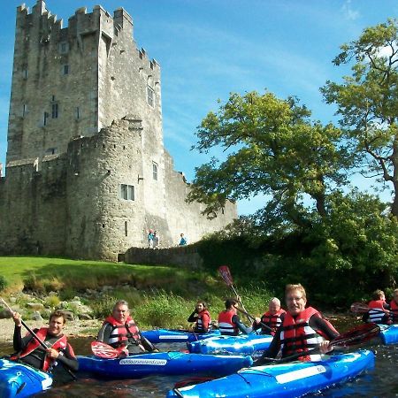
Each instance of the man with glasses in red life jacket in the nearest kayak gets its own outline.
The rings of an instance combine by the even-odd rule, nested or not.
[[[339,335],[327,320],[322,318],[318,310],[306,308],[307,296],[301,284],[287,285],[285,291],[287,313],[282,325],[273,336],[271,345],[264,351],[261,358],[257,359],[255,366],[267,364],[269,359],[276,358],[281,350],[282,358],[295,353],[303,353],[299,359],[319,359],[314,356],[305,356],[311,348],[319,348],[321,354],[326,354],[333,347],[329,341]]]

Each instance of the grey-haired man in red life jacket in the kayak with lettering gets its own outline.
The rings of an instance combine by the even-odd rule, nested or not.
[[[97,341],[113,348],[126,348],[124,355],[157,351],[157,348],[142,336],[134,319],[130,316],[125,300],[116,302],[111,315],[103,321]]]

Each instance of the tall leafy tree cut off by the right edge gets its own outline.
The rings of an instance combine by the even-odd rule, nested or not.
[[[341,84],[327,81],[322,92],[335,103],[341,125],[366,176],[392,184],[392,214],[398,216],[398,21],[364,29],[355,42],[341,46],[335,65],[352,65]]]

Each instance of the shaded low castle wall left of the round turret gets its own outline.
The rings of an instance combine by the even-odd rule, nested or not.
[[[0,179],[0,251],[65,253],[65,157],[14,162]]]

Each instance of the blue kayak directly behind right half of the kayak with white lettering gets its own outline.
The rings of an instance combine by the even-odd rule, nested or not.
[[[255,351],[264,351],[271,344],[268,334],[243,334],[240,336],[218,336],[201,341],[188,342],[189,352],[197,354],[241,354],[252,355]]]

